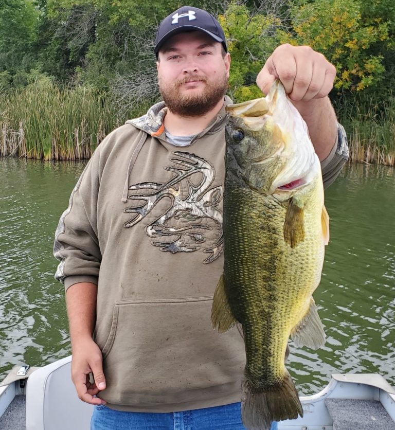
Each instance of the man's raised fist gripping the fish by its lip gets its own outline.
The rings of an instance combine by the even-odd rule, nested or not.
[[[310,46],[278,46],[267,59],[257,77],[264,94],[278,78],[293,101],[310,101],[326,97],[333,87],[336,68]]]

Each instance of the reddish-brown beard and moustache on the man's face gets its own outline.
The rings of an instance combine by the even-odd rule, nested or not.
[[[203,81],[205,87],[200,93],[188,92],[182,94],[181,85],[194,80]],[[180,116],[202,116],[211,111],[217,103],[225,96],[228,89],[228,78],[224,74],[217,81],[208,81],[203,76],[188,75],[182,79],[177,79],[174,84],[167,85],[159,79],[159,91],[168,109]]]

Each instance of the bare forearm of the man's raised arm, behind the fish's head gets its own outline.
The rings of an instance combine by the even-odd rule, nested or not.
[[[306,121],[314,150],[322,161],[333,149],[337,136],[337,118],[329,97],[292,103]]]

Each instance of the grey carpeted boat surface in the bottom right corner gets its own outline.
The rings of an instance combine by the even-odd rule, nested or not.
[[[333,430],[395,430],[395,423],[376,400],[326,399]]]

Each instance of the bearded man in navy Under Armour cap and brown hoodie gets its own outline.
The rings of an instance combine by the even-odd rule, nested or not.
[[[56,232],[72,378],[80,399],[96,405],[95,430],[237,430],[243,339],[237,328],[210,327],[223,271],[230,56],[219,23],[193,7],[161,22],[155,53],[164,102],[100,144]],[[283,83],[326,185],[347,159],[327,97],[334,77],[311,48],[282,45],[257,78],[264,93]]]

